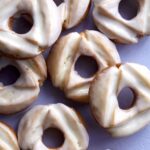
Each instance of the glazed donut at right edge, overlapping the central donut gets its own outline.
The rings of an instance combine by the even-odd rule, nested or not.
[[[110,67],[97,74],[90,87],[91,110],[97,122],[113,136],[134,134],[150,123],[150,70],[145,66],[127,63]],[[135,102],[121,109],[117,95],[129,87]]]

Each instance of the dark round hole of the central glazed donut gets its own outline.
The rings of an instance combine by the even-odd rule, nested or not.
[[[75,71],[83,78],[90,78],[98,71],[98,64],[93,57],[81,55],[76,61]]]

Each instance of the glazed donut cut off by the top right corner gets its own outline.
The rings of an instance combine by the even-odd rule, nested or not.
[[[118,9],[121,0],[94,0],[93,17],[97,28],[119,43],[137,43],[139,37],[150,35],[150,1],[139,0],[136,17],[126,20]]]

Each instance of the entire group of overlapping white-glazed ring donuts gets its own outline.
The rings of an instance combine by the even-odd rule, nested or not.
[[[0,114],[29,107],[48,71],[53,86],[74,103],[88,103],[97,123],[112,136],[129,136],[149,124],[150,70],[122,63],[114,42],[137,43],[140,37],[150,35],[150,1],[139,0],[140,11],[131,20],[119,14],[120,1],[64,0],[57,5],[54,0],[0,0],[0,69],[11,65],[20,73],[15,83],[0,84]],[[77,26],[87,16],[91,4],[99,31],[85,29],[60,37],[62,30]],[[13,30],[20,16],[33,24],[27,33]],[[49,48],[45,61],[42,53]],[[98,70],[92,77],[84,78],[75,70],[80,56],[96,61]],[[135,93],[135,102],[127,110],[118,103],[118,94],[125,87]],[[76,110],[62,103],[34,106],[21,119],[17,135],[0,122],[0,150],[51,149],[42,141],[48,128],[64,134],[58,150],[87,150],[90,138],[84,122]]]

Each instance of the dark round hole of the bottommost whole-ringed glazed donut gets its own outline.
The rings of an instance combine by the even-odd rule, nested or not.
[[[56,128],[48,128],[43,134],[43,143],[48,148],[58,148],[65,141],[64,134]]]

